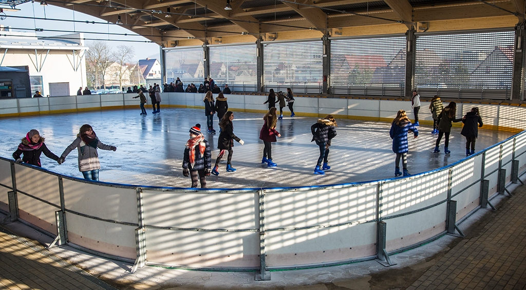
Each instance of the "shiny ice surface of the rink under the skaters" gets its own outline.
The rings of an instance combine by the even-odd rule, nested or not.
[[[90,124],[104,144],[117,146],[117,151],[99,151],[101,164],[100,181],[150,185],[189,187],[189,177],[184,177],[181,165],[188,130],[196,123],[203,128],[205,138],[212,149],[212,166],[219,153],[217,138],[219,126],[214,117],[217,134],[206,132],[204,109],[162,108],[161,113],[139,115],[140,109],[115,109],[68,114],[39,115],[0,119],[0,132],[4,141],[0,144],[0,155],[12,158],[21,139],[30,129],[37,129],[46,138],[47,147],[60,156],[74,141],[78,129]],[[288,111],[284,111],[288,113]],[[209,188],[240,187],[284,187],[326,185],[373,181],[394,177],[395,153],[391,150],[390,123],[337,119],[338,127],[329,154],[330,171],[325,175],[313,174],[319,149],[310,142],[310,126],[317,121],[313,117],[284,115],[278,120],[277,130],[281,134],[272,144],[273,161],[277,167],[267,168],[260,164],[263,142],[259,131],[264,114],[234,112],[234,134],[245,141],[235,143],[232,167],[237,172],[226,172],[226,154],[221,161],[219,176],[207,178]],[[409,115],[412,120],[412,114]],[[436,135],[431,135],[430,126],[420,126],[419,137],[409,138],[408,169],[411,174],[430,171],[466,158],[466,139],[460,135],[461,127],[453,127],[449,149],[443,153],[442,138],[440,153],[433,153]],[[479,129],[476,151],[498,143],[510,136],[510,132]],[[82,178],[78,171],[77,151],[68,155],[58,165],[44,154],[42,166],[60,174]]]

